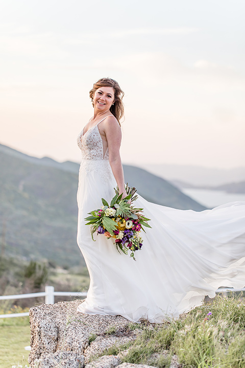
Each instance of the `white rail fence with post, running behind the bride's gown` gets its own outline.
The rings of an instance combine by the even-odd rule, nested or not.
[[[216,290],[216,293],[223,292],[227,294],[229,291],[245,291],[245,287],[242,289],[233,289],[233,288],[219,288]],[[70,291],[55,291],[54,286],[45,286],[44,292],[39,293],[31,293],[31,294],[16,294],[16,295],[1,295],[1,300],[16,300],[16,299],[25,299],[25,298],[33,298],[38,296],[45,296],[45,304],[54,304],[55,296],[87,296],[87,292],[70,292]],[[24,313],[9,313],[9,314],[0,314],[0,318],[11,318],[11,317],[24,317],[28,316],[29,312]]]

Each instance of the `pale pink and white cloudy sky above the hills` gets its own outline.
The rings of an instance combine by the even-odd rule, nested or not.
[[[244,16],[244,0],[0,0],[0,143],[79,162],[110,77],[122,162],[244,167]]]

